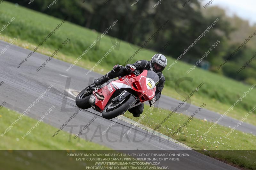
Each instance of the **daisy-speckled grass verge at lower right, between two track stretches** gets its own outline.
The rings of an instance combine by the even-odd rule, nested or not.
[[[170,113],[170,111],[161,108],[154,108],[150,111],[150,107],[145,105],[143,114],[147,111],[149,113],[143,119],[141,117],[135,118],[128,112],[124,116],[155,129]],[[156,131],[210,157],[247,169],[256,168],[255,135],[235,130],[229,136],[226,136],[231,129],[218,124],[209,133],[204,135],[213,123],[194,118],[189,121],[188,125],[182,127],[178,134],[173,136],[172,134],[187,120],[187,115],[173,114]]]

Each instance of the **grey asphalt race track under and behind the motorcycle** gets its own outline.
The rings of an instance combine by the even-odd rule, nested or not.
[[[0,41],[0,49],[4,49],[6,45],[7,43]],[[69,92],[76,94],[76,92],[84,89],[89,81],[100,75],[92,72],[89,76],[86,76],[85,72],[87,70],[77,66],[67,72],[66,69],[70,66],[70,63],[56,59],[52,59],[42,70],[37,72],[36,69],[49,58],[39,53],[33,54],[27,62],[17,68],[16,66],[29,53],[30,50],[12,45],[5,51],[4,55],[1,55],[0,80],[4,81],[4,84],[0,86],[0,103],[5,101],[7,103],[6,107],[22,113],[42,92],[53,85],[47,94],[31,108],[28,116],[39,119],[52,105],[55,105],[56,108],[44,119],[44,122],[60,128],[69,119],[69,116],[78,110],[75,104],[75,96],[68,93],[68,90],[65,91],[65,89],[67,88]],[[177,104],[177,100],[162,96],[159,107],[168,109],[170,106],[176,107]],[[196,106],[191,105],[188,111],[184,113],[193,113],[196,108]],[[69,122],[64,130],[77,134],[94,116],[96,116],[96,119],[90,124],[89,130],[85,130],[81,135],[82,138],[88,141],[106,145],[115,150],[170,150],[170,152],[171,150],[190,150],[180,144],[150,134],[141,128],[135,128],[126,137],[123,137],[122,135],[132,125],[122,120],[118,120],[106,134],[101,135],[113,120],[102,118],[100,113],[92,109],[82,110]],[[204,112],[198,115],[198,118],[214,121],[219,116],[217,113],[204,109]],[[238,121],[226,117],[220,124],[233,126],[236,122]],[[255,133],[256,127],[244,123],[239,126],[238,130]],[[52,134],[54,133],[52,132]],[[182,159],[182,161],[172,163],[173,169],[236,169],[195,151],[191,151],[188,158]]]

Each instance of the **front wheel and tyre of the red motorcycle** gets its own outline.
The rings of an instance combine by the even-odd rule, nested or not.
[[[124,114],[124,111],[129,110],[135,101],[135,97],[132,95],[127,96],[119,102],[110,102],[102,111],[102,117],[106,119],[113,119],[121,114]],[[129,106],[130,105],[130,106]]]

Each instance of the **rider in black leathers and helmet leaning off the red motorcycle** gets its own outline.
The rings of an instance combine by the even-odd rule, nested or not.
[[[159,83],[156,85],[156,92],[155,96],[152,100],[149,100],[149,104],[153,105],[157,100],[159,100],[161,96],[161,92],[164,88],[165,78],[162,73],[164,68],[167,65],[167,59],[162,54],[155,54],[151,61],[147,60],[140,60],[133,64],[127,64],[125,67],[131,69],[132,71],[139,70],[140,73],[143,72],[143,70],[151,70],[156,72],[156,74],[159,76]],[[101,78],[95,79],[94,84],[99,86],[103,83],[107,82],[108,80],[116,77],[124,77],[125,75],[130,74],[130,72],[125,69],[123,66],[115,65],[113,67],[113,70],[109,71],[106,75],[102,76]],[[144,103],[141,103],[140,105],[136,107],[132,107],[128,111],[133,114],[134,117],[140,117],[140,114],[142,114],[144,110]]]

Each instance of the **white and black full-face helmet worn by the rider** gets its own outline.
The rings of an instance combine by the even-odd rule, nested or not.
[[[160,73],[167,66],[167,59],[162,54],[155,54],[150,61],[150,70]]]

